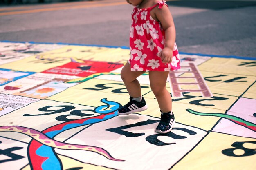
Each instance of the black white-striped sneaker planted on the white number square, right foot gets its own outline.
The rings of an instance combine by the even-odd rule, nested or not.
[[[157,133],[168,133],[173,128],[173,125],[175,123],[174,115],[170,115],[169,113],[161,113],[161,120],[155,129],[155,132]]]

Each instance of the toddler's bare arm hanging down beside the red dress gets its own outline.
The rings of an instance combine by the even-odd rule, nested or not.
[[[165,31],[165,46],[160,53],[160,57],[163,63],[170,63],[173,58],[173,48],[176,38],[173,17],[166,5],[163,5],[161,9],[156,8],[155,16]]]

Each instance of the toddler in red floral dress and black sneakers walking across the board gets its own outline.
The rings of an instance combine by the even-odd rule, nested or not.
[[[121,71],[121,78],[130,95],[130,102],[118,110],[128,115],[146,110],[137,77],[148,71],[150,87],[161,111],[158,133],[167,133],[175,123],[171,95],[166,90],[168,73],[180,69],[175,44],[175,26],[165,1],[126,0],[134,6],[130,28],[130,60]]]

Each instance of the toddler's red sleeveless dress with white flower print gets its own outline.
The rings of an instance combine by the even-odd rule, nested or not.
[[[162,63],[159,53],[164,48],[165,33],[160,22],[154,20],[150,11],[159,5],[167,5],[158,1],[153,7],[132,11],[132,24],[130,28],[130,60],[131,71],[170,71],[180,69],[180,58],[176,43],[173,49],[171,63]]]

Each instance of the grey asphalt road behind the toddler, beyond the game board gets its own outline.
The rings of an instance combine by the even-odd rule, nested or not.
[[[179,51],[256,58],[256,1],[169,1]],[[129,46],[125,0],[0,7],[0,41]]]

